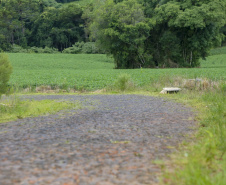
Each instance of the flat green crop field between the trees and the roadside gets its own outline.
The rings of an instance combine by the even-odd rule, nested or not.
[[[138,85],[151,85],[165,78],[226,79],[226,54],[201,61],[200,68],[114,69],[113,59],[100,54],[8,54],[13,66],[9,84],[17,87],[62,86],[97,90],[112,84],[120,74],[129,74]]]

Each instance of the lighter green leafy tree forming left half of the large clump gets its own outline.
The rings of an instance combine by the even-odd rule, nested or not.
[[[116,68],[137,68],[150,61],[143,47],[150,27],[136,0],[100,4],[90,30],[99,47],[113,55]]]

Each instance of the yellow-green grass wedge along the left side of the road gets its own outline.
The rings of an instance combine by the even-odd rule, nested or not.
[[[25,117],[54,114],[60,110],[79,108],[81,108],[79,102],[55,100],[22,101],[15,96],[11,96],[10,98],[0,100],[0,123]]]

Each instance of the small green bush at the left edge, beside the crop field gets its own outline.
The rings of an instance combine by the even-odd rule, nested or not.
[[[0,97],[8,90],[7,82],[12,73],[12,66],[6,54],[0,54]]]

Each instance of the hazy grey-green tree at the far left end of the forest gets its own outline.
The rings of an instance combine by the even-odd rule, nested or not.
[[[10,44],[27,46],[29,27],[39,14],[37,0],[8,0],[0,2],[0,43],[3,50]]]

